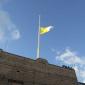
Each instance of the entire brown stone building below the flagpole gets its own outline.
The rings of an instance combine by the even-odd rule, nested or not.
[[[78,85],[74,69],[0,50],[0,85]]]

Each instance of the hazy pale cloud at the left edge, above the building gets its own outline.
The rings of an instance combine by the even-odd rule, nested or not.
[[[18,40],[20,31],[12,22],[10,15],[6,11],[0,10],[0,42],[4,40]]]

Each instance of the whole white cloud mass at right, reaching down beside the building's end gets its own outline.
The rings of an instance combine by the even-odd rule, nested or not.
[[[63,64],[73,66],[78,80],[85,83],[85,59],[83,57],[67,48],[63,52],[58,52],[56,61],[58,60]]]

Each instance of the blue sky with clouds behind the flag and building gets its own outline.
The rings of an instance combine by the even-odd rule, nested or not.
[[[38,15],[41,26],[54,26],[40,37],[40,57],[85,82],[85,0],[0,0],[0,48],[36,59]]]

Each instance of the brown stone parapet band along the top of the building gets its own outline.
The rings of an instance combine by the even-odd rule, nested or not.
[[[21,66],[23,68],[26,67],[26,68],[34,69],[39,72],[49,73],[58,76],[65,76],[77,80],[74,69],[67,68],[66,66],[60,67],[60,66],[52,65],[49,64],[47,60],[41,58],[33,60],[30,58],[11,54],[1,50],[0,64],[1,63],[10,66],[18,66],[18,67]]]

